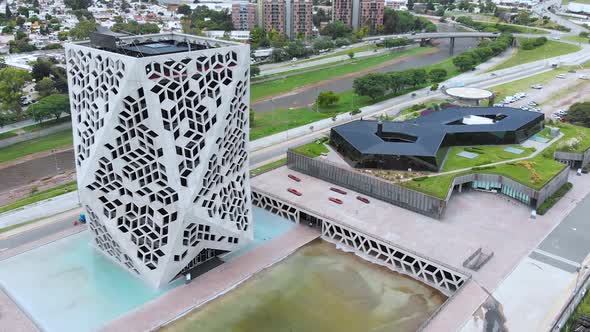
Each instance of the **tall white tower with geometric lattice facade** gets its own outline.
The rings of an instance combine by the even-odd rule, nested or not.
[[[66,45],[80,200],[94,245],[159,287],[253,238],[250,50],[183,34],[118,46]]]

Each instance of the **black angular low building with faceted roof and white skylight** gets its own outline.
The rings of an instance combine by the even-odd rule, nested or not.
[[[451,146],[519,144],[544,119],[510,107],[452,107],[403,122],[349,122],[332,128],[330,143],[357,168],[438,171]]]

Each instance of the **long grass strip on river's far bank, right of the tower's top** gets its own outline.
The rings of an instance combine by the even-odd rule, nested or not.
[[[255,83],[252,84],[250,88],[250,98],[252,102],[256,102],[266,97],[286,93],[309,84],[371,69],[372,67],[377,67],[396,58],[425,54],[433,52],[434,50],[434,47],[417,47],[401,52],[391,52],[374,57],[360,58],[358,60],[353,60],[352,62],[347,62],[341,66],[319,69],[312,74],[302,73],[285,78],[278,78],[276,80]]]

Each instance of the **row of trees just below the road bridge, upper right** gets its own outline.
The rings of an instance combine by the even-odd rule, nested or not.
[[[460,71],[468,71],[480,63],[502,53],[512,44],[513,37],[510,34],[502,34],[494,41],[483,41],[473,50],[466,51],[455,58],[453,64]]]

